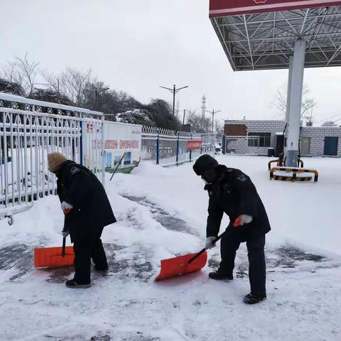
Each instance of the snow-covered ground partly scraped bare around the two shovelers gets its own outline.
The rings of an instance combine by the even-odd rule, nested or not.
[[[72,267],[33,269],[34,247],[61,242],[57,197],[16,215],[11,227],[1,220],[0,340],[341,340],[341,160],[304,159],[318,183],[269,181],[265,157],[218,161],[250,175],[269,213],[267,301],[242,303],[244,244],[232,282],[207,278],[218,247],[202,271],[153,281],[160,259],[202,249],[208,198],[192,165],[146,162],[107,178],[119,222],[102,237],[109,274],[93,274],[89,289],[64,286]]]

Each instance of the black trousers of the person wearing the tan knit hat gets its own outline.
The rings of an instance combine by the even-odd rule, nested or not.
[[[97,270],[108,269],[107,256],[105,255],[102,240],[82,238],[75,240],[73,244],[75,251],[75,276],[78,283],[90,283],[91,259]]]

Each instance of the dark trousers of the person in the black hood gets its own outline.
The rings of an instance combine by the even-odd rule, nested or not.
[[[233,276],[234,259],[241,243],[240,237],[226,234],[220,242],[222,261],[218,271],[224,276]],[[247,241],[247,255],[249,257],[249,281],[251,293],[264,295],[266,293],[266,266],[264,256],[265,235]]]

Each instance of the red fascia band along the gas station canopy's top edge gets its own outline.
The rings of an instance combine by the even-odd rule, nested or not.
[[[210,0],[210,17],[324,6],[341,6],[341,0]]]

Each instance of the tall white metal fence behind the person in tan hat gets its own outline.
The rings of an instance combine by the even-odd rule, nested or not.
[[[70,116],[73,115],[73,116]],[[56,194],[47,155],[60,151],[104,181],[102,115],[0,93],[0,218]],[[102,117],[100,117],[102,118]]]

